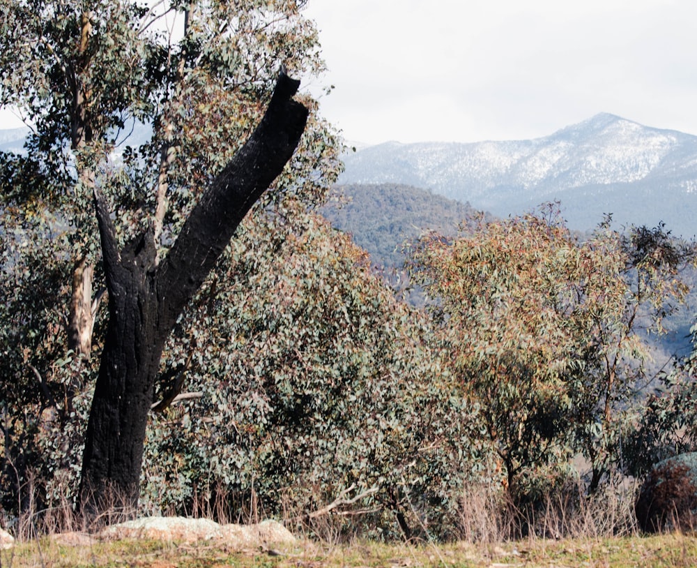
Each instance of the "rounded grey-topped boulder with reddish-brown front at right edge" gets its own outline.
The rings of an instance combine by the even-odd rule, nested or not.
[[[694,530],[697,527],[697,452],[654,465],[634,505],[645,532]]]

